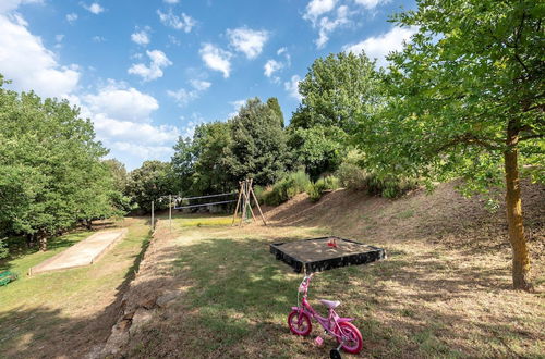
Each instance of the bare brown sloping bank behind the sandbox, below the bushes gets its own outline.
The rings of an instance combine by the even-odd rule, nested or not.
[[[313,203],[306,194],[276,207],[266,216],[278,226],[319,226],[364,243],[429,242],[468,255],[508,250],[502,194],[499,208],[491,211],[479,197],[464,198],[457,183],[443,184],[433,193],[415,190],[400,199],[368,196],[363,191],[336,190]],[[531,248],[533,275],[545,280],[545,187],[522,183],[525,234]]]

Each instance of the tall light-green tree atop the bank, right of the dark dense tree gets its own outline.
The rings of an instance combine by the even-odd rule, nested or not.
[[[347,134],[383,99],[374,66],[363,52],[329,54],[316,59],[300,83],[303,99],[291,119],[289,144],[314,180],[337,170],[349,147]]]

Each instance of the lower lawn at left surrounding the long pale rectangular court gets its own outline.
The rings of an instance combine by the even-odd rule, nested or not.
[[[0,287],[1,351],[10,357],[34,357],[41,348],[40,356],[70,354],[73,357],[78,343],[88,342],[89,337],[104,339],[104,329],[108,326],[104,324],[116,320],[108,311],[119,299],[119,289],[133,276],[134,265],[149,240],[147,224],[144,219],[125,219],[119,223],[129,227],[128,236],[89,267],[35,276],[26,274],[31,267],[92,232],[68,234],[53,239],[46,252],[19,252],[3,261],[0,268],[17,273],[19,280]],[[96,320],[106,321],[101,323],[104,327],[96,325]]]

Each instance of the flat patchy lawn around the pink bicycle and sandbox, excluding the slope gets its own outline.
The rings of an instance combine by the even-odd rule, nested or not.
[[[161,226],[167,227],[168,221],[161,221]],[[184,215],[173,220],[173,231],[169,252],[172,245],[178,250],[171,255],[174,260],[168,261],[171,270],[166,281],[171,281],[171,287],[181,286],[183,297],[173,308],[158,310],[156,320],[133,337],[129,357],[328,356],[335,341],[325,336],[325,347],[316,347],[313,339],[323,334],[316,322],[311,337],[290,334],[286,320],[296,304],[302,274],[277,261],[268,248],[272,242],[316,237],[326,230],[238,228],[230,226],[228,218]],[[485,270],[489,262],[482,259],[463,262],[459,253],[425,243],[373,244],[387,248],[388,260],[320,272],[310,289],[313,306],[323,313],[326,309],[317,299],[341,300],[338,312],[355,318],[365,357],[535,357],[543,352],[543,319],[532,315],[532,311],[543,312],[543,305],[532,295],[514,294],[486,280],[501,275],[508,284],[508,272]],[[474,273],[481,273],[484,282],[475,284]]]

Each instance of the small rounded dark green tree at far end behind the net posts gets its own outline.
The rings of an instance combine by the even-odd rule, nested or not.
[[[138,208],[145,212],[168,208],[168,201],[160,201],[162,196],[174,193],[172,166],[168,162],[145,161],[141,168],[130,173],[128,193]]]

